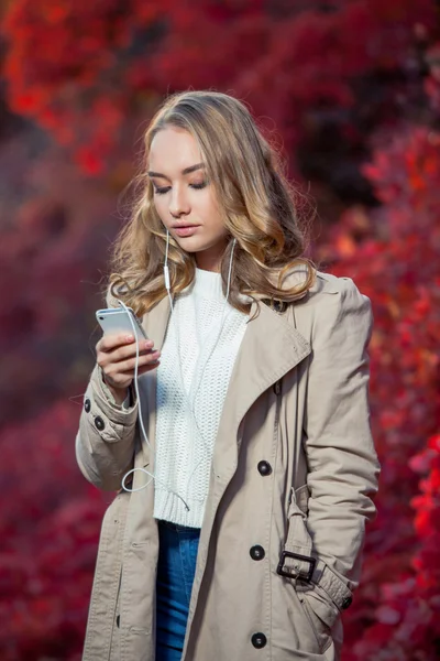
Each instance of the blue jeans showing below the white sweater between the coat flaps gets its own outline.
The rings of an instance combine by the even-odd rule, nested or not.
[[[180,661],[200,529],[157,521],[156,661]]]

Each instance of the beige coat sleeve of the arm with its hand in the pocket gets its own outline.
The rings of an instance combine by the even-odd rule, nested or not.
[[[312,332],[305,416],[307,527],[316,554],[354,589],[380,473],[369,407],[373,315],[370,299],[352,280],[338,282],[340,291],[319,307]]]

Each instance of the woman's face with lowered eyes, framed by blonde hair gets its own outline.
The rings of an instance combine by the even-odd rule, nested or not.
[[[157,214],[172,237],[195,253],[200,269],[218,271],[228,230],[193,136],[176,128],[156,133],[150,148],[148,176]]]

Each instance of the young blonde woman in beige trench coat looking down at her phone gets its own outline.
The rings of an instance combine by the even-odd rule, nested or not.
[[[119,490],[84,659],[336,660],[375,511],[370,301],[301,257],[241,102],[175,95],[145,145],[108,302],[151,342],[136,392],[133,337],[99,340],[77,436],[86,478]]]

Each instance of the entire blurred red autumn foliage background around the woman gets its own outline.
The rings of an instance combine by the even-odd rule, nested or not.
[[[80,659],[112,496],[74,457],[111,242],[169,93],[249,104],[373,303],[383,474],[343,661],[440,659],[440,2],[0,0],[0,659]]]

